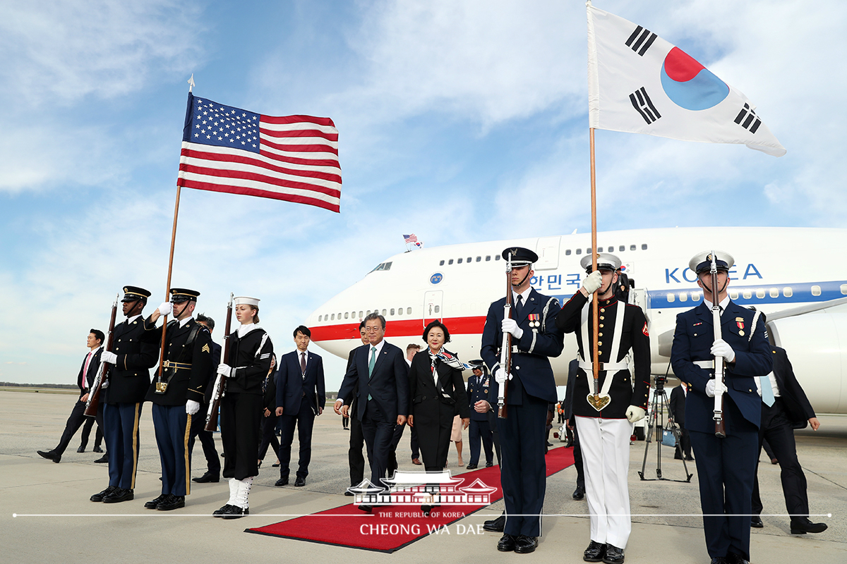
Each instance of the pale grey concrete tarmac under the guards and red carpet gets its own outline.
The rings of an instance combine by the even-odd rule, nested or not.
[[[424,537],[393,554],[244,533],[245,528],[277,523],[351,501],[352,498],[343,496],[349,475],[349,431],[342,429],[340,418],[331,409],[315,421],[313,458],[306,486],[274,487],[279,473],[277,468],[270,467],[274,455],[268,452],[253,485],[252,515],[223,521],[210,517],[229,496],[223,481],[193,485],[184,509],[174,512],[144,509],[144,502],[160,492],[158,451],[150,406],[146,404],[141,417],[136,499],[117,504],[92,503],[89,496],[108,485],[107,465],[93,462],[100,456],[90,450],[93,435],[89,451],[78,454],[78,433],[61,463],[36,454],[36,450],[49,450],[56,445],[73,402],[74,396],[67,393],[0,390],[0,507],[3,508],[0,562],[147,562],[163,558],[186,563],[265,558],[347,562],[410,558],[448,562],[581,562],[582,551],[589,542],[586,503],[571,498],[576,477],[573,467],[547,479],[544,534],[538,550],[531,555],[497,552],[499,534],[458,534],[460,529],[455,524],[450,526],[451,534]],[[822,534],[789,533],[789,518],[780,516],[785,513],[785,503],[779,467],[772,466],[763,452],[759,479],[765,527],[753,529],[752,562],[847,562],[847,417],[819,419],[822,428],[817,433],[811,430],[796,433],[797,451],[808,480],[811,512],[831,514],[831,517],[811,518],[828,523],[829,528]],[[295,441],[294,457],[296,448]],[[689,473],[695,474],[690,483],[642,481],[638,471],[645,442],[637,441],[630,448],[633,532],[626,561],[708,562],[702,518],[698,516],[700,497],[694,463],[689,463]],[[467,441],[463,455],[467,464]],[[419,469],[411,463],[407,435],[401,441],[398,458],[401,469]],[[448,463],[454,475],[465,471],[457,466],[455,449],[451,449]],[[192,475],[199,476],[204,467],[198,443]],[[668,479],[685,478],[682,463],[673,459],[673,449],[662,449],[662,474]],[[645,478],[655,476],[656,443],[652,443]],[[502,509],[499,501],[458,523],[475,528],[485,519],[499,515]]]

